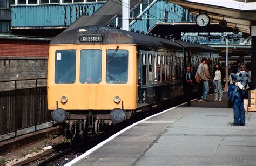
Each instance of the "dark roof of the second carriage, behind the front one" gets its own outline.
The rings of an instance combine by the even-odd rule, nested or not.
[[[176,40],[177,43],[182,45],[185,51],[196,51],[196,52],[212,52],[217,53],[218,51],[210,46],[202,45],[202,44],[195,44],[195,43],[188,43],[185,41]]]

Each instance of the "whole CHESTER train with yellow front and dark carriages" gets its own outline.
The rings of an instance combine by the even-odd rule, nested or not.
[[[108,26],[72,26],[49,45],[48,109],[72,133],[99,135],[103,126],[182,98],[185,67],[196,73],[203,57],[213,65],[219,60],[205,45]]]

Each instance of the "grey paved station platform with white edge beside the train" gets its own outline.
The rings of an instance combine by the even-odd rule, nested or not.
[[[255,165],[256,112],[233,127],[227,99],[213,99],[139,123],[73,165]]]

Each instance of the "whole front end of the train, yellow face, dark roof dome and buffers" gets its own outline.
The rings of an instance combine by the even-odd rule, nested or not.
[[[92,26],[51,41],[48,109],[53,120],[99,134],[99,125],[131,116],[126,112],[137,107],[136,45],[113,44],[117,35],[127,40],[117,32]]]

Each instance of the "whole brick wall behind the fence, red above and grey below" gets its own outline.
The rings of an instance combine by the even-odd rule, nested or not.
[[[0,39],[0,81],[47,77],[50,41]],[[35,87],[35,80],[17,81],[17,88]],[[38,80],[46,86],[46,80]],[[0,82],[0,91],[15,88],[15,81]]]

